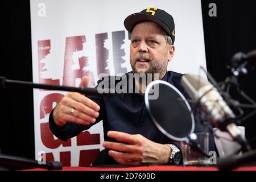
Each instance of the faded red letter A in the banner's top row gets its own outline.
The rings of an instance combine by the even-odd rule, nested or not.
[[[82,78],[82,76],[89,77],[88,86],[94,86],[93,73],[89,70],[84,70],[84,67],[88,67],[88,57],[78,56],[79,69],[72,69],[75,65],[75,60],[73,60],[73,54],[77,51],[82,51],[86,42],[85,36],[73,36],[66,38],[65,46],[65,59],[64,59],[64,72],[63,72],[63,85],[75,86],[76,78]],[[81,55],[86,54],[82,52]]]

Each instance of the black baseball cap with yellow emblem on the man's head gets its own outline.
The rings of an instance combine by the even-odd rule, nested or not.
[[[123,22],[127,31],[131,32],[135,25],[139,22],[150,21],[158,24],[162,27],[168,35],[171,36],[172,43],[175,40],[175,26],[174,18],[164,10],[160,10],[157,7],[148,7],[148,9],[142,10],[140,13],[134,13],[125,19]]]

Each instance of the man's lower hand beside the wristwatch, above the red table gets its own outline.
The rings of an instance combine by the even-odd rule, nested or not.
[[[129,166],[167,164],[171,148],[165,144],[152,142],[142,135],[130,135],[119,131],[109,131],[108,137],[122,143],[104,142],[109,155],[119,164]]]

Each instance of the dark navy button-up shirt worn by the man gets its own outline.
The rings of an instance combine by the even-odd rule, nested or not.
[[[189,98],[181,85],[182,74],[168,71],[162,80],[174,85],[185,98]],[[127,79],[128,80],[128,79]],[[151,122],[146,110],[144,96],[139,93],[121,93],[114,94],[112,97],[88,96],[91,100],[100,105],[100,116],[96,123],[103,121],[104,139],[113,141],[106,134],[110,130],[122,131],[128,134],[141,134],[147,139],[157,143],[170,143],[170,140],[164,137]],[[49,116],[49,126],[52,133],[62,140],[75,137],[81,131],[88,130],[93,125],[79,125],[73,122],[67,122],[64,127],[55,125],[52,119],[52,113]],[[195,124],[195,132],[199,132],[199,126]],[[177,144],[179,146],[179,144]]]

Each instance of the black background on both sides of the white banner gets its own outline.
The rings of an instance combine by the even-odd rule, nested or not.
[[[229,75],[226,66],[234,53],[256,49],[256,1],[201,2],[207,69],[217,81],[223,81]],[[212,2],[217,5],[217,17],[208,15],[208,5]],[[0,1],[0,23],[0,76],[32,81],[29,1]],[[254,100],[255,78],[254,71],[240,79],[241,88]],[[32,90],[0,89],[0,148],[3,154],[35,158],[33,109]],[[248,119],[243,126],[247,138],[253,139],[256,117]]]

